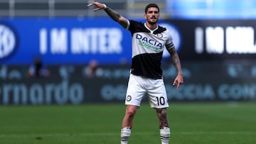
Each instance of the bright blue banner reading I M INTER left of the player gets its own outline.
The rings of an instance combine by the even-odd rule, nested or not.
[[[2,18],[0,62],[30,64],[41,55],[48,64],[130,60],[131,34],[110,18]]]

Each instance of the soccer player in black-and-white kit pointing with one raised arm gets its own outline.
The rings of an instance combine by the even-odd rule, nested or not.
[[[166,108],[169,104],[161,69],[164,47],[170,53],[177,70],[173,83],[177,90],[183,83],[183,75],[171,34],[166,28],[158,25],[159,6],[148,4],[145,7],[146,23],[128,20],[107,7],[106,4],[97,1],[90,2],[87,6],[95,6],[93,11],[104,9],[110,18],[132,33],[132,67],[125,99],[126,111],[122,121],[121,144],[128,143],[135,113],[145,94],[148,95],[149,104],[151,108],[156,109],[159,118],[161,143],[168,144],[171,132]]]

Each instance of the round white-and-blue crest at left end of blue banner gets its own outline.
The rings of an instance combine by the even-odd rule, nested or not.
[[[18,47],[18,38],[14,28],[0,22],[0,60],[4,60],[14,54]]]

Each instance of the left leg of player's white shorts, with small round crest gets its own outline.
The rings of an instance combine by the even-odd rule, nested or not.
[[[140,106],[142,98],[146,93],[142,77],[130,74],[125,98],[126,105]]]

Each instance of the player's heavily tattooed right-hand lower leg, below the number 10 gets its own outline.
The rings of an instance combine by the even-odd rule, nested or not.
[[[156,109],[157,116],[159,118],[159,129],[161,136],[161,143],[168,144],[170,140],[170,128],[169,120],[167,118],[166,109]]]

